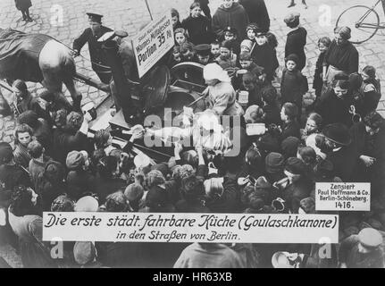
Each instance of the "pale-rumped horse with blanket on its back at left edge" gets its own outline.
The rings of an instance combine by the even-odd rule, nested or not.
[[[81,100],[73,77],[76,66],[71,50],[45,34],[0,28],[0,79],[40,82],[63,97],[63,83],[73,101]]]

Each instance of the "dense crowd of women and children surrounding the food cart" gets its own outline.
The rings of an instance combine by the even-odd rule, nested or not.
[[[113,144],[116,130],[89,136],[93,117],[79,103],[48,91],[33,97],[22,80],[13,83],[18,125],[14,147],[0,143],[0,204],[7,220],[2,233],[24,266],[384,266],[381,86],[373,66],[359,66],[350,29],[335,29],[332,39],[320,35],[316,98],[305,107],[307,32],[299,14],[285,17],[280,63],[263,0],[223,0],[213,15],[207,4],[191,4],[182,21],[171,12],[175,46],[167,63],[201,63],[207,85],[206,110],[184,108],[182,126],[137,125],[121,148]],[[279,68],[277,90],[272,82]],[[239,124],[227,129],[224,115],[238,116]],[[135,154],[134,142],[148,136],[176,138],[170,160]],[[188,139],[193,144],[181,143]],[[237,147],[236,156],[227,156]],[[64,257],[53,259],[50,242],[42,240],[42,212],[48,211],[317,214],[316,182],[371,182],[370,212],[331,212],[339,214],[339,244],[326,245],[326,257],[319,244],[73,241],[64,242]]]

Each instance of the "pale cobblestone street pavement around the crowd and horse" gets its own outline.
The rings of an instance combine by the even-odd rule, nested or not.
[[[170,8],[176,8],[180,12],[180,18],[188,16],[188,6],[192,1],[186,0],[148,0],[153,17],[156,18],[164,13],[168,13]],[[307,65],[304,73],[308,78],[309,87],[312,87],[314,64],[318,57],[317,40],[323,36],[333,37],[333,28],[339,14],[347,7],[355,4],[374,4],[374,0],[321,0],[314,4],[314,1],[308,1],[308,9],[300,4],[292,8],[287,8],[289,0],[265,0],[271,18],[271,30],[276,34],[279,40],[277,54],[280,63],[283,63],[284,46],[288,28],[283,22],[284,16],[289,12],[297,11],[301,13],[301,24],[307,29],[307,45],[305,52],[307,55]],[[62,41],[65,45],[71,46],[74,38],[77,38],[83,29],[88,28],[87,12],[99,12],[105,15],[104,24],[112,29],[124,29],[130,37],[134,36],[138,30],[151,21],[150,15],[146,9],[144,0],[32,0],[33,6],[30,8],[30,14],[33,22],[25,23],[21,20],[21,13],[14,7],[13,0],[0,1],[0,27],[19,29],[24,32],[45,33],[53,38]],[[211,0],[210,7],[212,14],[221,4],[220,0]],[[381,21],[385,22],[385,15],[378,7],[378,13]],[[377,69],[377,75],[381,79],[382,90],[385,90],[385,29],[365,42],[357,46],[360,54],[360,67],[370,64]],[[83,48],[81,55],[84,57],[76,58],[77,68],[80,73],[96,78],[96,75],[90,69],[87,45]],[[280,67],[282,69],[282,66]],[[100,103],[105,98],[105,93],[90,88],[84,84],[77,83],[78,88],[83,93],[84,100],[91,100],[95,104]],[[33,94],[38,94],[42,90],[40,84],[29,83],[29,90]],[[65,91],[65,88],[63,89]],[[5,95],[6,90],[1,90]],[[66,96],[69,97],[68,92]],[[310,92],[305,100],[314,97],[313,91]],[[379,112],[385,116],[385,97],[381,98]],[[13,130],[15,121],[13,117],[4,117],[0,115],[0,141],[13,142]],[[7,248],[5,248],[7,249]],[[0,257],[9,258],[8,250],[0,248]],[[12,257],[12,256],[11,256]],[[12,260],[12,258],[9,258]],[[17,260],[17,257],[15,258]],[[12,264],[12,263],[11,263]],[[18,266],[20,264],[13,263]]]

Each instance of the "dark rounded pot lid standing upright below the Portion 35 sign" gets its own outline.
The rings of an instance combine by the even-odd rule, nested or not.
[[[161,65],[150,71],[142,89],[145,100],[145,114],[151,114],[156,109],[163,107],[167,99],[170,86],[170,71],[167,66]]]

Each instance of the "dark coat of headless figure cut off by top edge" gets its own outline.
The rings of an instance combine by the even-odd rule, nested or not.
[[[251,23],[256,23],[266,31],[270,29],[269,13],[264,0],[239,0],[239,4],[244,6]]]

